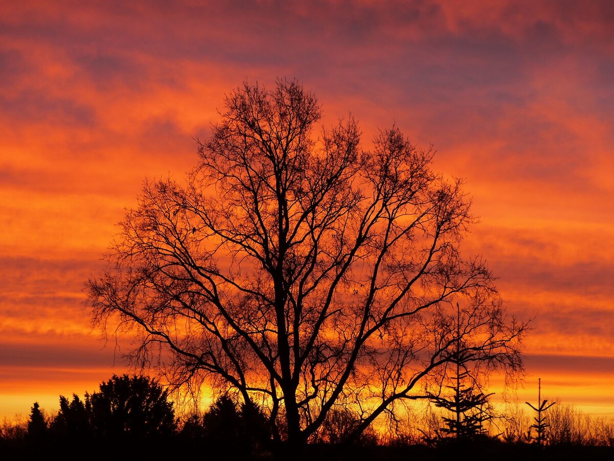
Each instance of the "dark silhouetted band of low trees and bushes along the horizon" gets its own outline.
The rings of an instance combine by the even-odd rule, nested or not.
[[[412,421],[397,420],[394,430],[380,433],[368,428],[359,438],[348,439],[358,422],[357,414],[348,409],[331,411],[305,457],[445,459],[465,453],[474,459],[526,460],[614,455],[614,420],[589,417],[560,403],[533,420],[518,406],[496,420],[492,413],[484,420],[476,419],[475,413],[465,420],[450,417],[449,409],[447,415],[430,412]],[[283,443],[272,429],[256,404],[236,404],[227,395],[204,413],[177,416],[167,390],[158,382],[123,375],[113,376],[83,399],[60,396],[56,414],[45,414],[34,403],[27,419],[5,419],[0,425],[0,450],[9,456],[56,452],[88,459],[194,451],[205,459],[272,459]]]

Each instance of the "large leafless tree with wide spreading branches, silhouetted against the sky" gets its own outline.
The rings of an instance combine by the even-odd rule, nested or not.
[[[297,81],[225,104],[187,183],[146,182],[87,283],[94,323],[139,335],[135,364],[169,352],[172,382],[234,388],[292,449],[336,405],[359,415],[356,437],[427,398],[424,378],[457,353],[456,302],[471,360],[521,369],[526,324],[461,256],[470,200],[432,171],[432,148],[392,127],[363,150],[352,117],[317,131]]]

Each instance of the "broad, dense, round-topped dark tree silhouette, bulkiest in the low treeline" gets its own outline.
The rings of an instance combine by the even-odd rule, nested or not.
[[[95,436],[109,439],[153,439],[174,434],[173,403],[155,380],[114,375],[100,384],[86,404],[91,408]]]

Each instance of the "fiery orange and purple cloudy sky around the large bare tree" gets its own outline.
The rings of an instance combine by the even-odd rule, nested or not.
[[[521,403],[614,416],[614,5],[0,0],[0,418],[97,390],[126,344],[84,282],[144,179],[184,178],[243,82],[297,78],[365,147],[395,124],[465,178]]]

